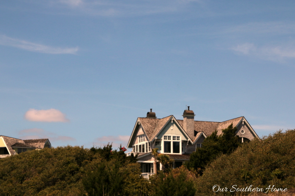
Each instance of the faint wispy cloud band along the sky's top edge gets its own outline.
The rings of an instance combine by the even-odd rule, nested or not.
[[[184,10],[192,3],[203,0],[40,0],[45,7],[62,13],[88,14],[105,17],[138,16],[171,13]]]

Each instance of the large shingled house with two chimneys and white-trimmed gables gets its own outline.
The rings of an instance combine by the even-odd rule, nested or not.
[[[151,149],[158,148],[159,153],[168,154],[173,159],[174,167],[179,167],[196,148],[202,147],[202,142],[215,130],[222,134],[231,123],[238,128],[236,134],[242,142],[259,138],[245,117],[238,117],[224,122],[195,121],[194,111],[183,112],[183,120],[177,120],[173,115],[157,119],[155,112],[147,113],[145,118],[137,118],[129,139],[128,148],[131,153],[138,154],[138,162],[142,166],[142,175],[148,178],[154,174],[154,157]]]

